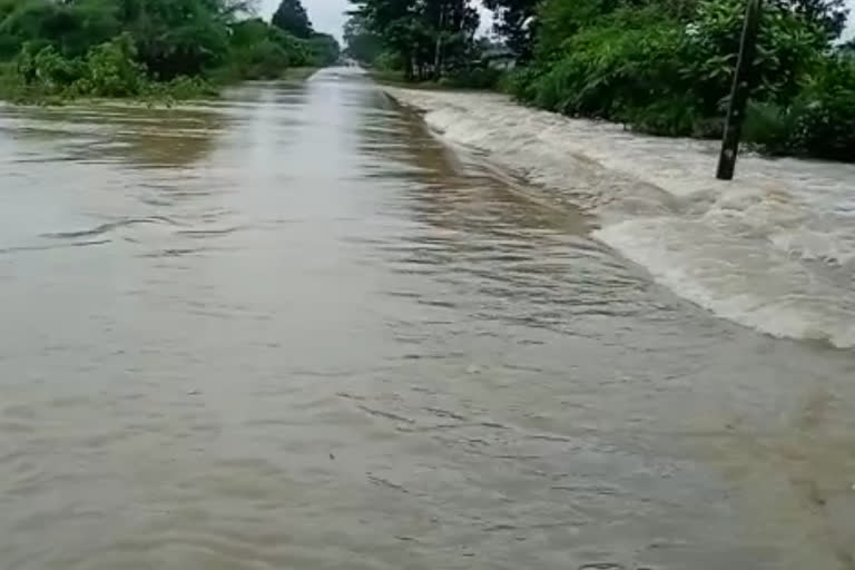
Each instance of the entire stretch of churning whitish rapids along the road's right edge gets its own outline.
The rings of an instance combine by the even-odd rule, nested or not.
[[[855,346],[855,166],[647,137],[497,95],[393,89],[448,140],[597,214],[594,237],[658,282],[764,333]]]

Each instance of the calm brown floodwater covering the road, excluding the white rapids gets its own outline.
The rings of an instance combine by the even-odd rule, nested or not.
[[[0,107],[0,567],[855,568],[855,353],[531,194],[347,70]]]

